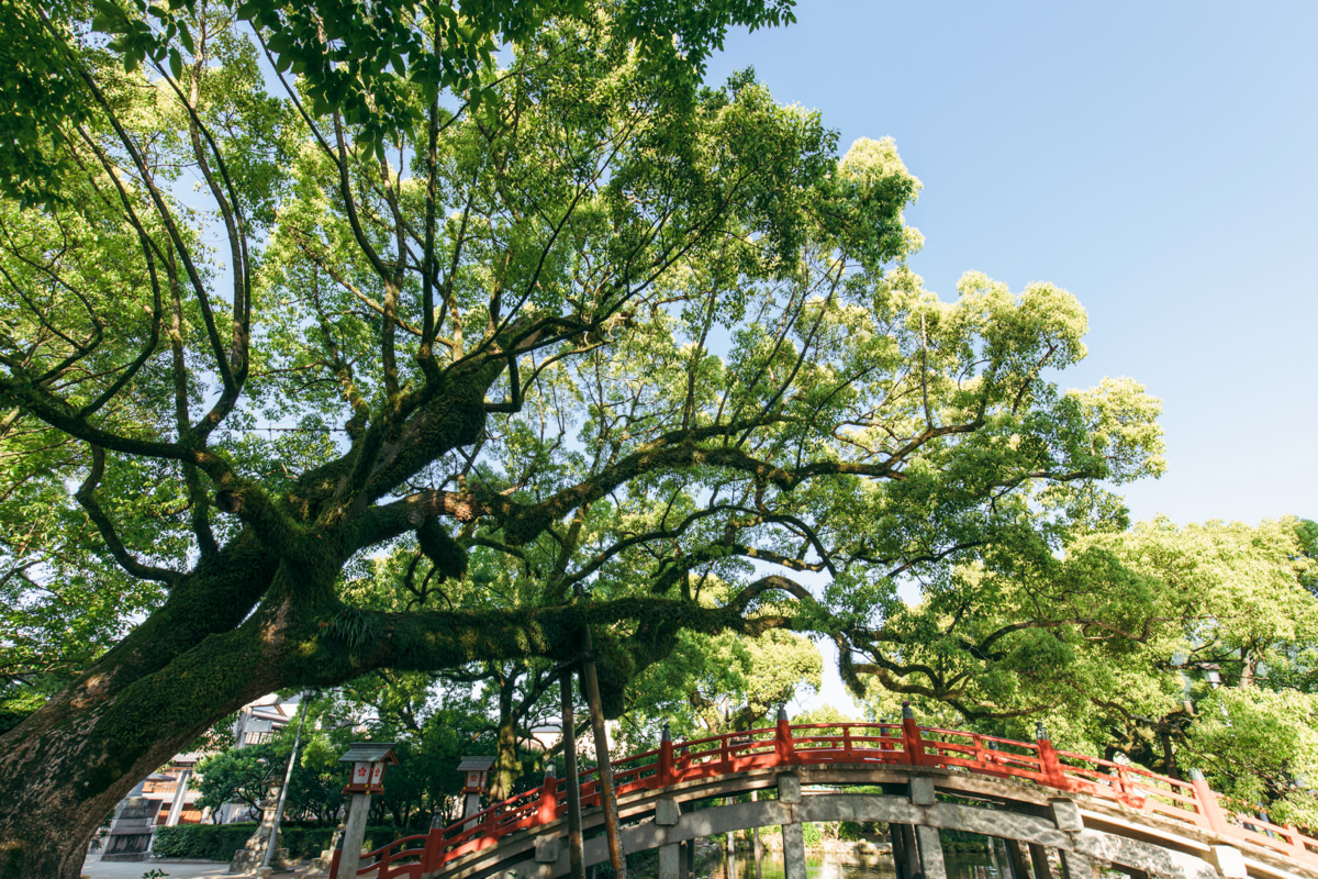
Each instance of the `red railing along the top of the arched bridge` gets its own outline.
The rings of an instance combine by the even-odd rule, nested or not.
[[[825,730],[841,730],[825,733]],[[878,731],[878,734],[871,734]],[[895,763],[967,771],[996,778],[1019,778],[1060,791],[1087,793],[1131,809],[1157,814],[1243,842],[1272,849],[1318,866],[1318,839],[1294,826],[1224,808],[1220,795],[1202,775],[1185,781],[1097,756],[1058,751],[1052,742],[1036,742],[902,723],[821,722],[720,733],[685,742],[663,742],[659,749],[612,760],[619,793],[662,789],[677,781],[717,778],[750,768],[800,764]],[[581,804],[598,805],[598,768],[580,774]],[[509,833],[540,826],[567,814],[567,791],[554,776],[544,784],[496,803],[428,834],[398,839],[368,853],[378,859],[358,875],[380,870],[380,879],[439,870],[445,862],[478,851]],[[418,850],[394,850],[405,842],[426,839],[419,861],[395,865]],[[335,854],[337,865],[339,854]],[[333,875],[333,874],[331,874]]]

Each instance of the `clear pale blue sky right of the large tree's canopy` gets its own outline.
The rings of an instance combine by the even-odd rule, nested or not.
[[[924,182],[912,268],[981,270],[1090,316],[1062,376],[1164,402],[1168,473],[1126,490],[1178,523],[1318,519],[1318,4],[800,0],[733,34],[840,150],[892,136]]]

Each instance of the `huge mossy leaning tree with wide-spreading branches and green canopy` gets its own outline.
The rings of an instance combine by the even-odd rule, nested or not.
[[[616,713],[680,631],[873,642],[1160,468],[1141,387],[1054,383],[1069,294],[921,287],[891,142],[699,84],[784,8],[469,5],[5,18],[0,875],[273,689],[589,627]]]

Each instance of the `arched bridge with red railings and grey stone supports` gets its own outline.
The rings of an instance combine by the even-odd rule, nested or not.
[[[1184,781],[1058,751],[1046,738],[1015,742],[909,717],[780,718],[775,727],[663,742],[614,762],[613,772],[623,847],[658,849],[659,879],[685,875],[683,846],[689,853],[696,838],[771,825],[783,828],[787,879],[805,879],[801,824],[840,820],[887,822],[899,879],[946,879],[940,829],[1006,839],[1006,879],[1057,879],[1050,865],[1066,879],[1098,879],[1102,868],[1133,879],[1318,878],[1318,841],[1236,812],[1199,774]],[[583,774],[584,809],[600,805],[592,776]],[[757,797],[729,803],[747,792]],[[602,821],[602,809],[585,812],[588,866],[608,861]],[[447,828],[364,854],[357,874],[555,879],[568,874],[565,838],[565,789],[547,776]]]

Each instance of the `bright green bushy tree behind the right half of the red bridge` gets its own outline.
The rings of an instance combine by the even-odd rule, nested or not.
[[[973,564],[894,608],[853,671],[870,710],[1032,738],[1174,778],[1201,768],[1238,808],[1313,826],[1318,601],[1296,519],[1165,519],[1089,534],[1037,575]],[[882,688],[882,689],[879,689]]]

